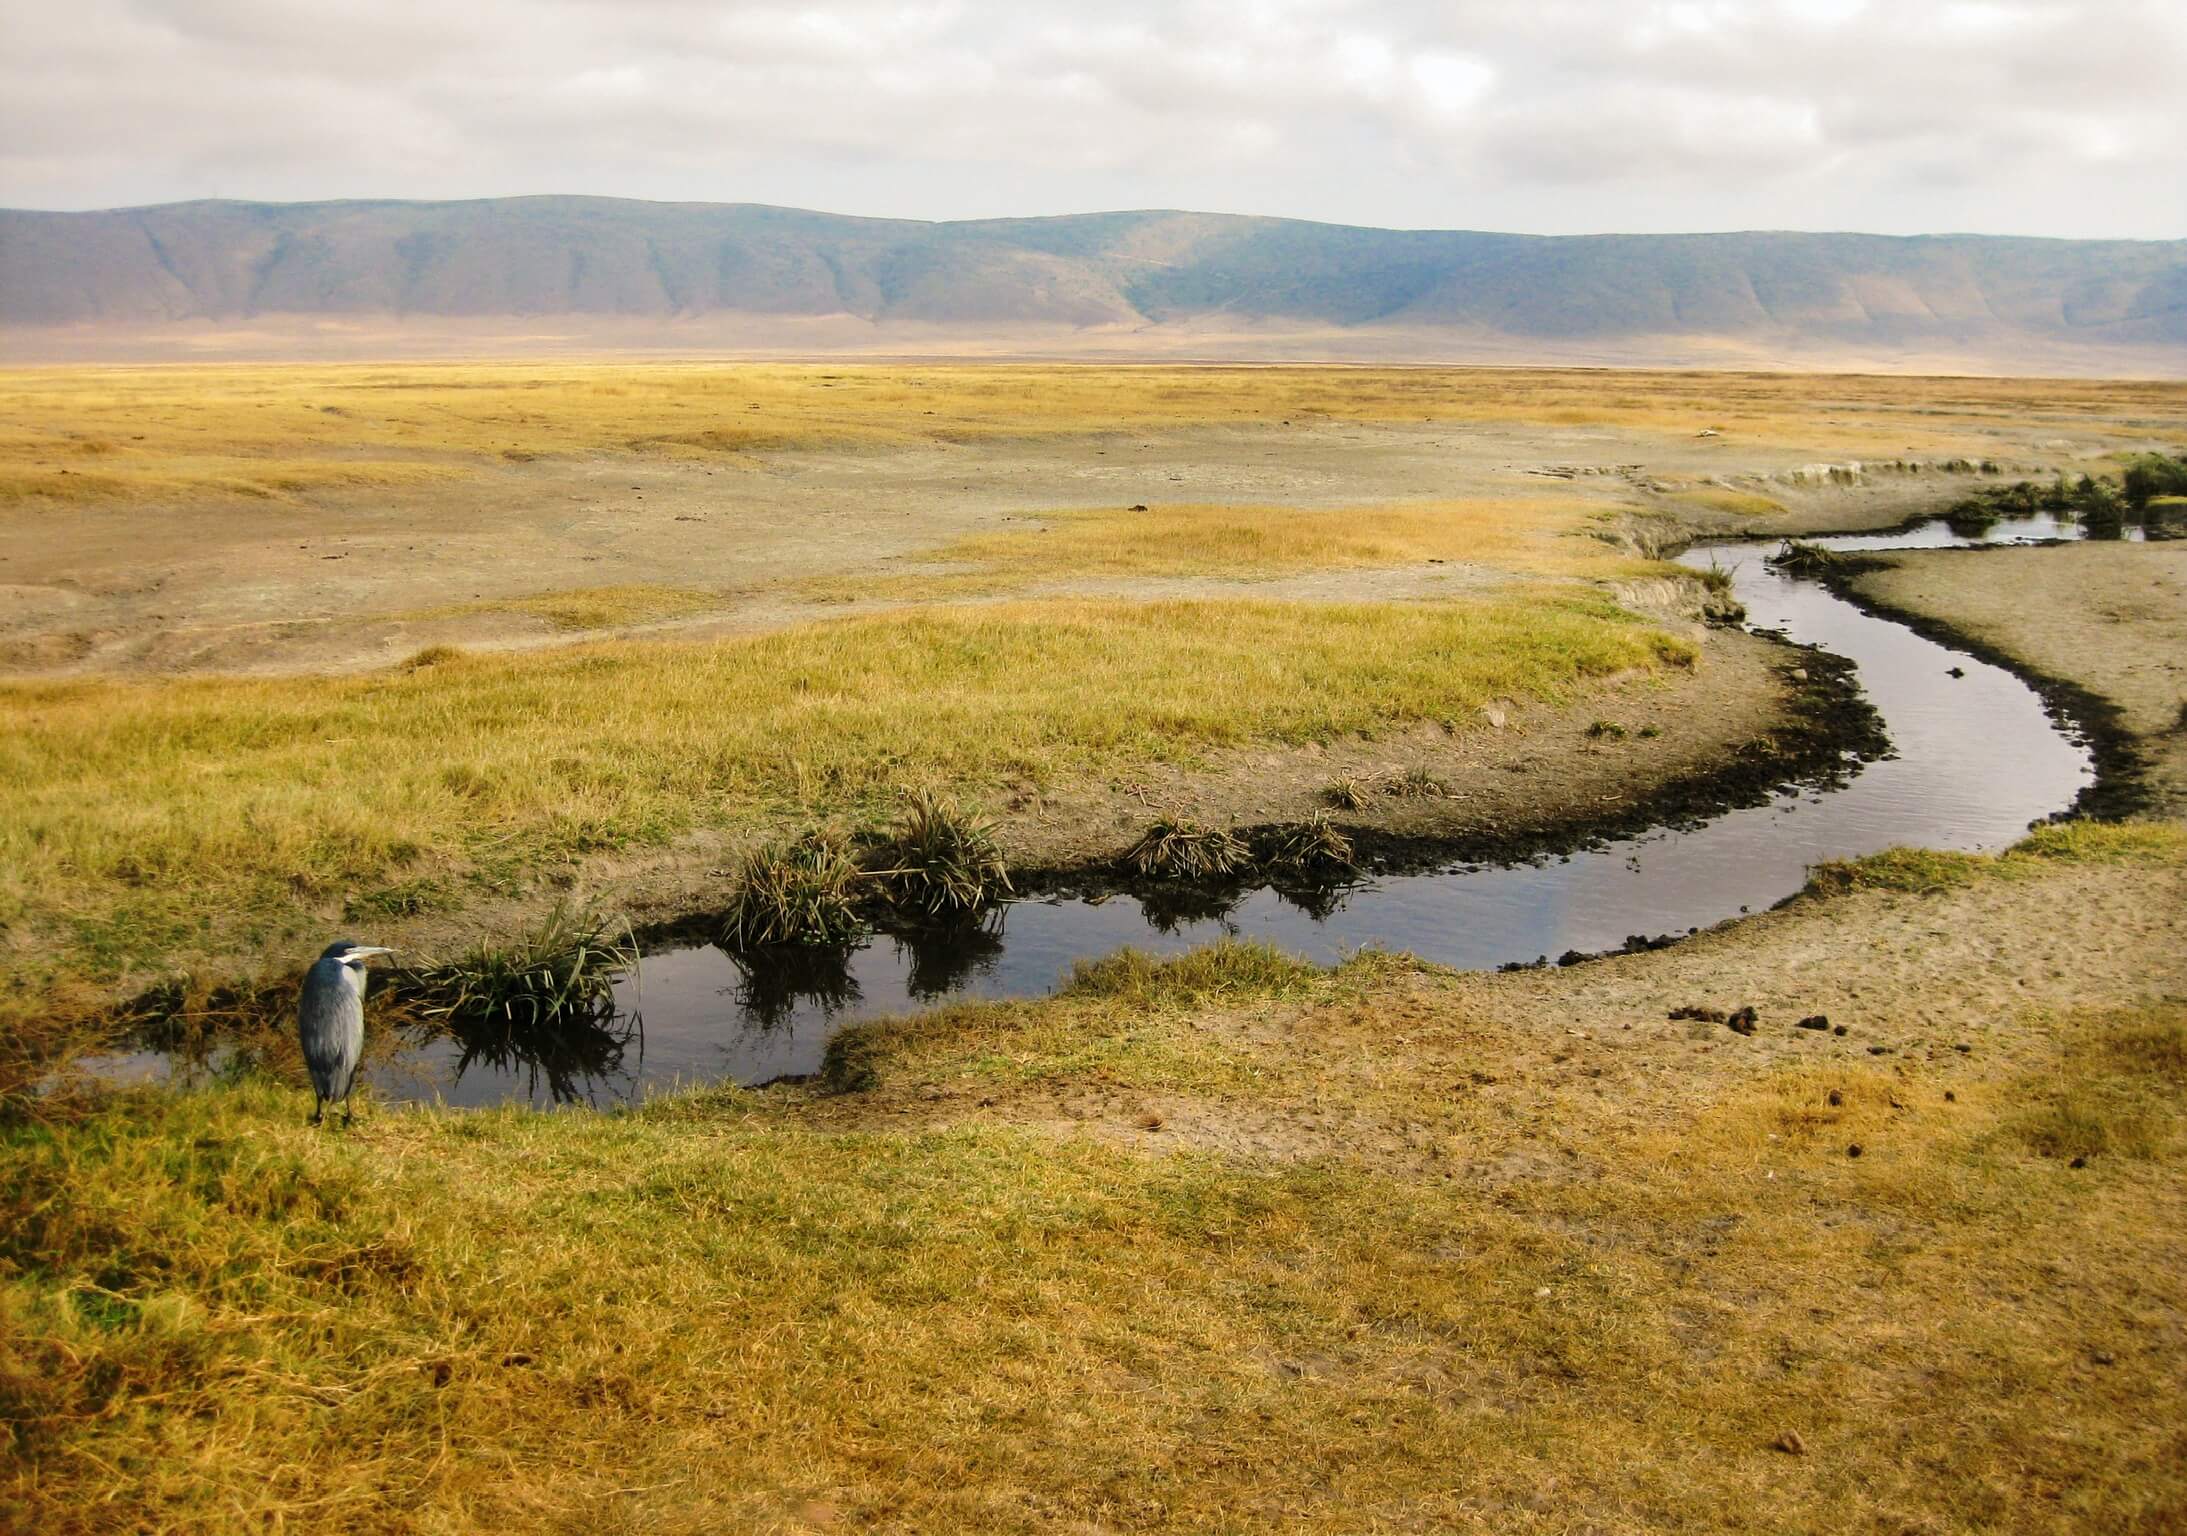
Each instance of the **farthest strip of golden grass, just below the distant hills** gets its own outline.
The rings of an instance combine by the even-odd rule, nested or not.
[[[286,497],[601,453],[1314,422],[1533,422],[1855,457],[1981,455],[1997,429],[2187,431],[2187,385],[1492,368],[402,363],[0,372],[0,505]]]

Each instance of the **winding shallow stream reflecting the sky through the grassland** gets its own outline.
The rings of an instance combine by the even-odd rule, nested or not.
[[[2073,523],[2047,516],[1973,534],[1955,534],[1938,519],[1809,543],[1866,551],[2078,536]],[[1684,934],[1758,912],[1798,891],[1822,860],[1892,845],[1999,849],[2069,807],[2093,781],[2089,746],[2032,687],[1861,613],[1811,580],[1769,569],[1771,547],[1706,543],[1682,562],[1730,571],[1752,628],[1855,663],[1892,750],[1844,764],[1833,783],[1787,783],[1763,805],[1564,858],[1380,875],[1317,897],[1247,888],[1229,901],[1203,897],[1198,910],[1190,901],[1183,910],[1150,910],[1131,895],[1034,895],[967,934],[881,934],[790,961],[755,963],[713,945],[665,947],[647,954],[621,989],[625,1028],[582,1063],[466,1066],[464,1046],[442,1037],[367,1052],[367,1079],[381,1098],[455,1105],[608,1105],[678,1083],[763,1083],[814,1072],[829,1037],[855,1020],[943,998],[1041,996],[1076,961],[1120,945],[1172,954],[1223,936],[1266,939],[1323,963],[1380,945],[1467,969],[1616,950],[1629,936]]]

